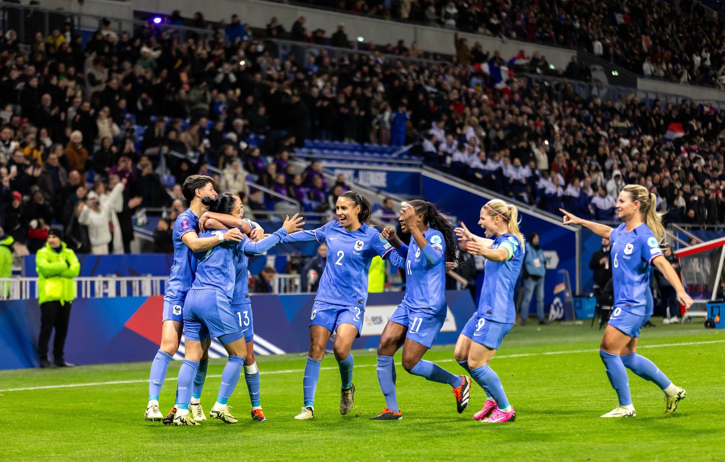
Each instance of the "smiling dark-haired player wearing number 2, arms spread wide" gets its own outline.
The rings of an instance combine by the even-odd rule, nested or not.
[[[333,332],[335,358],[340,368],[342,388],[340,413],[350,412],[355,397],[352,384],[352,341],[360,337],[368,301],[368,269],[373,257],[386,258],[393,247],[365,222],[370,219],[370,202],[355,191],[340,194],[336,203],[339,221],[331,221],[314,231],[299,231],[282,242],[325,242],[327,265],[320,277],[315,304],[310,316],[310,352],[302,387],[305,405],[297,420],[312,418],[315,412],[315,389],[320,377],[320,363],[325,345]]]

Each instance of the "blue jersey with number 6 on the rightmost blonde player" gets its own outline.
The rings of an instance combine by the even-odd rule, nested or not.
[[[622,223],[613,229],[612,283],[614,304],[632,314],[650,316],[654,310],[650,289],[650,263],[662,255],[660,243],[644,223],[627,232]]]

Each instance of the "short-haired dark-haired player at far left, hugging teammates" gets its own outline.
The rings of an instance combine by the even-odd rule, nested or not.
[[[154,362],[151,365],[151,373],[149,374],[149,404],[146,406],[144,417],[146,420],[159,421],[164,420],[165,424],[171,424],[176,411],[176,405],[164,418],[159,411],[159,394],[161,387],[166,379],[166,371],[173,358],[173,355],[179,348],[181,343],[181,332],[183,329],[183,303],[186,292],[194,281],[194,263],[191,259],[191,252],[203,252],[204,250],[215,247],[223,241],[240,242],[242,233],[252,231],[253,223],[247,223],[247,228],[242,231],[233,230],[225,233],[223,236],[209,236],[203,239],[198,235],[199,217],[207,210],[207,206],[202,203],[202,199],[209,197],[214,199],[217,193],[214,190],[214,180],[210,176],[191,175],[186,178],[181,187],[183,196],[189,202],[188,210],[181,213],[176,218],[173,226],[174,241],[174,261],[171,265],[169,280],[166,284],[166,293],[164,294],[164,309],[161,330],[161,347],[156,353]],[[198,393],[204,386],[204,378],[207,374],[207,349],[204,348],[202,357],[202,366],[199,367],[199,375],[195,380],[195,387]],[[192,411],[194,416],[200,420],[204,420],[204,411],[198,401],[194,400]]]

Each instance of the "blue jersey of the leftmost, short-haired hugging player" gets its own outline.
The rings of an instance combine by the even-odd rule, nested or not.
[[[194,215],[191,209],[187,209],[176,218],[173,227],[174,241],[174,261],[171,264],[169,273],[169,281],[166,284],[166,293],[164,300],[167,302],[181,302],[186,297],[186,292],[191,288],[194,282],[194,272],[196,271],[196,261],[192,261],[191,249],[186,247],[181,237],[194,231],[199,233],[199,218]]]

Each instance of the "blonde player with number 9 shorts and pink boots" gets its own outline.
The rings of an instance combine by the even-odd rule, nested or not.
[[[500,199],[481,207],[479,225],[493,239],[474,236],[463,223],[460,225],[455,228],[458,240],[465,242],[468,253],[486,258],[486,275],[479,309],[458,337],[455,359],[486,392],[486,404],[473,418],[489,423],[513,422],[516,413],[489,363],[516,319],[513,288],[521,273],[524,255],[518,210]]]

